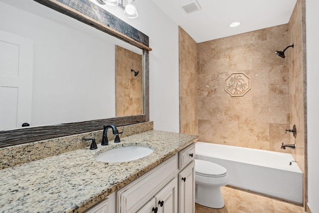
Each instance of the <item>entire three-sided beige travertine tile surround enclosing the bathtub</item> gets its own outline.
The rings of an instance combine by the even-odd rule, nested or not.
[[[247,32],[197,45],[197,81],[185,70],[193,67],[193,39],[180,28],[180,129],[209,143],[291,153],[304,173],[304,205],[307,203],[307,99],[306,99],[306,1],[297,0],[288,24]],[[275,54],[286,50],[286,58]],[[251,78],[251,90],[243,97],[224,91],[224,79],[232,72]],[[198,106],[190,90],[198,85]],[[185,99],[185,101],[182,101]],[[187,100],[187,101],[186,101]],[[198,108],[198,114],[193,110]],[[297,126],[297,138],[285,134]],[[193,125],[190,127],[189,125]],[[281,143],[297,149],[280,149]]]

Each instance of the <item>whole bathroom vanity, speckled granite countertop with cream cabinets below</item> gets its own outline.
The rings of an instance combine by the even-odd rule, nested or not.
[[[3,212],[194,212],[194,143],[197,136],[148,131],[0,170]],[[123,163],[95,156],[114,146],[154,152]]]

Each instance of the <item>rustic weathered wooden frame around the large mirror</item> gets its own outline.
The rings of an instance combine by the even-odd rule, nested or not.
[[[150,120],[149,109],[149,36],[104,10],[90,0],[34,0],[85,24],[143,49],[144,115],[114,117],[65,124],[26,127],[0,131],[0,147],[102,130],[103,125],[125,126]],[[97,15],[98,14],[98,15]]]

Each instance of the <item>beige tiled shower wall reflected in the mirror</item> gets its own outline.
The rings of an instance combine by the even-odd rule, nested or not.
[[[134,76],[131,69],[139,74]],[[142,92],[142,55],[116,46],[116,116],[141,115]]]

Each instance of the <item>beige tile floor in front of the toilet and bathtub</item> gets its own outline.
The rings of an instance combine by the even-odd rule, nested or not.
[[[196,204],[195,213],[305,213],[303,207],[231,187],[222,187],[222,194],[224,208]]]

